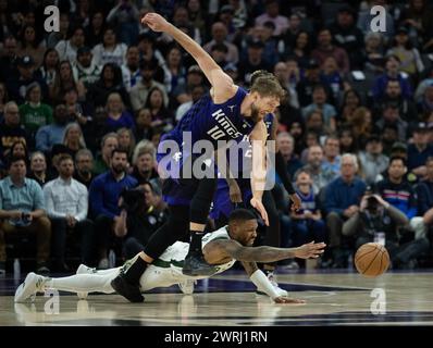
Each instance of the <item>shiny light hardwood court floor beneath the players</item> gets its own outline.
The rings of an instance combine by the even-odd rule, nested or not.
[[[4,325],[433,325],[433,272],[359,274],[279,273],[281,287],[306,304],[275,304],[257,296],[240,270],[201,281],[193,296],[176,286],[147,294],[145,303],[117,295],[60,296],[59,312],[46,313],[47,297],[14,303],[18,279],[0,278]],[[51,310],[52,310],[51,306]],[[50,307],[48,306],[48,310]]]

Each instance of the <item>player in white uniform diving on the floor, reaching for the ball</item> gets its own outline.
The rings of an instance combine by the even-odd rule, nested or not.
[[[257,229],[256,216],[246,209],[232,212],[228,225],[202,238],[202,251],[206,261],[214,268],[213,274],[221,273],[240,261],[251,282],[276,303],[304,303],[305,301],[288,297],[286,290],[272,285],[269,278],[260,271],[256,262],[276,262],[290,258],[318,258],[323,253],[325,244],[310,243],[298,248],[251,247]],[[187,243],[176,241],[156,260],[140,277],[140,289],[147,291],[156,287],[168,287],[186,281],[208,278],[209,276],[189,276],[182,273],[183,262],[188,252]],[[77,274],[51,278],[29,273],[24,283],[15,291],[15,302],[23,302],[46,289],[57,289],[77,293],[82,298],[88,293],[112,294],[115,290],[111,281],[121,272],[125,272],[134,259],[123,266],[96,271],[81,265]]]

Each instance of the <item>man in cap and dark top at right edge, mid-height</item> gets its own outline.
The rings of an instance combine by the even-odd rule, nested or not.
[[[408,146],[408,170],[422,178],[426,174],[425,161],[433,157],[433,145],[429,144],[429,127],[420,122],[413,129],[412,144]]]

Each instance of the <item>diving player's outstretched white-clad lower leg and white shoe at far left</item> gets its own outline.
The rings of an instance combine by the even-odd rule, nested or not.
[[[15,302],[23,302],[37,293],[55,289],[71,293],[104,293],[112,294],[111,281],[119,274],[120,268],[111,269],[104,274],[75,274],[72,276],[51,278],[36,273],[28,273],[23,284],[15,291]]]

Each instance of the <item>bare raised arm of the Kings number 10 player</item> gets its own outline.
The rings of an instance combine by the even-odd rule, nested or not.
[[[141,23],[147,24],[153,32],[163,32],[172,36],[201,67],[209,83],[213,87],[213,98],[216,103],[221,103],[232,98],[236,94],[237,87],[233,79],[225,74],[221,66],[206,52],[200,45],[193,40],[181,29],[169,23],[158,13],[147,13]]]

